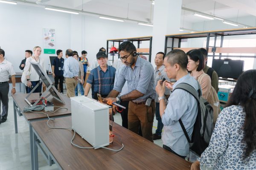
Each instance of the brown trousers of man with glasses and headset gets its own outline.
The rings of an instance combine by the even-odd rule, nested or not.
[[[151,102],[151,106],[145,104],[137,105],[129,102],[128,106],[128,129],[134,133],[138,133],[141,126],[142,136],[153,142],[152,128],[154,122],[155,102]]]

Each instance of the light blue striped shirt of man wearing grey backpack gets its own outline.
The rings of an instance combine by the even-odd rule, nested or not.
[[[173,88],[182,82],[191,85],[195,89],[200,88],[198,87],[196,79],[189,74],[175,82]],[[189,154],[189,143],[178,120],[181,119],[191,139],[198,113],[198,103],[189,92],[182,89],[173,91],[168,101],[168,105],[162,116],[164,125],[162,136],[163,144],[170,147],[175,153],[186,156]]]

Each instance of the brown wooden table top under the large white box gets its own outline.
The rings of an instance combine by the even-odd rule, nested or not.
[[[70,143],[72,130],[50,129],[46,122],[41,120],[31,122],[31,125],[63,170],[190,170],[190,162],[116,123],[113,123],[113,134],[119,135],[124,144],[119,152],[104,148],[94,150],[74,147]],[[49,125],[71,127],[71,116],[50,121]],[[117,150],[122,147],[117,135],[108,148]],[[78,134],[73,143],[91,147]]]

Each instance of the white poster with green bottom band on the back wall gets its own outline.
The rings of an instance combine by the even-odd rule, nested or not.
[[[55,54],[55,29],[44,28],[44,54]]]

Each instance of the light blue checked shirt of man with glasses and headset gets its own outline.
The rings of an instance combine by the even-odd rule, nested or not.
[[[148,98],[156,98],[154,68],[147,60],[137,57],[134,69],[131,69],[130,66],[122,69],[113,90],[121,93],[125,81],[128,83],[128,93],[137,90],[144,94],[144,96],[134,99],[133,102],[144,102]]]

